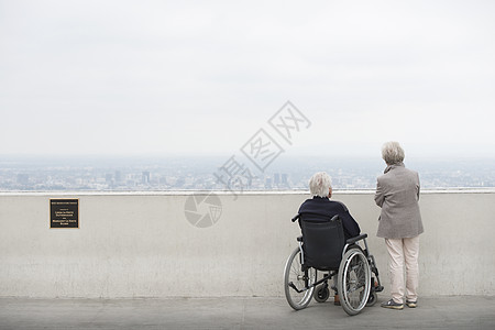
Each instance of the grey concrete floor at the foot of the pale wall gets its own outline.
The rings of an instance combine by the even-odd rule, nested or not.
[[[333,302],[294,311],[285,298],[0,298],[0,329],[495,329],[495,297],[421,298],[416,309]]]

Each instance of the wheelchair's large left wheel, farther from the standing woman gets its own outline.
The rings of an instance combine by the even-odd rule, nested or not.
[[[311,301],[316,282],[316,271],[302,271],[300,250],[297,248],[287,258],[284,271],[284,292],[287,302],[295,310],[306,308]]]

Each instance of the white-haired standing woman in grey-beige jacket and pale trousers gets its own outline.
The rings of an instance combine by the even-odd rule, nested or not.
[[[403,309],[406,295],[406,305],[414,308],[418,301],[419,234],[424,232],[418,205],[419,176],[404,166],[404,150],[397,142],[385,143],[382,157],[387,167],[376,185],[375,202],[382,208],[377,237],[385,239],[392,279],[392,299],[382,307]]]

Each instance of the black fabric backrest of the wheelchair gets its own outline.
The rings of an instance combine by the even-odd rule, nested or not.
[[[315,213],[301,213],[299,224],[302,231],[305,265],[323,271],[339,270],[342,250],[345,245],[339,216],[330,218]]]

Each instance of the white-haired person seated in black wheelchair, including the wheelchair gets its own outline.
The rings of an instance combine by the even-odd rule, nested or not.
[[[302,235],[290,254],[284,271],[284,290],[288,304],[296,310],[306,308],[311,298],[324,302],[331,288],[349,315],[376,302],[383,290],[378,270],[366,244],[367,234],[360,228],[346,207],[331,201],[331,179],[324,172],[309,180],[312,199],[306,200],[293,222],[299,220]],[[362,248],[361,244],[364,244]],[[323,275],[318,278],[318,271]],[[376,279],[372,276],[375,274]]]

